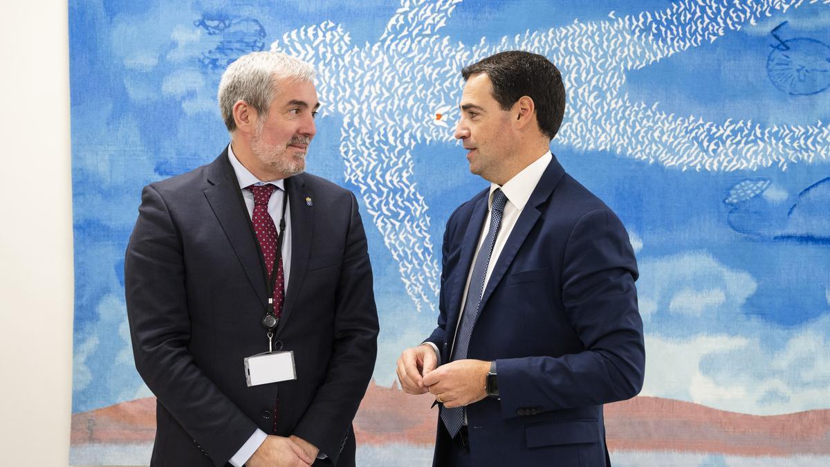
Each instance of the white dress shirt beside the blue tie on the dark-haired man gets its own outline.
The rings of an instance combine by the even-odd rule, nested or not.
[[[464,313],[467,289],[470,288],[470,279],[472,277],[472,264],[476,263],[476,258],[478,258],[478,253],[481,249],[481,244],[484,243],[484,240],[487,238],[486,226],[490,225],[491,207],[493,204],[493,192],[496,191],[496,189],[501,189],[501,191],[507,197],[507,202],[505,203],[504,213],[501,215],[501,225],[499,226],[498,234],[496,234],[496,243],[493,245],[493,253],[490,257],[490,263],[487,264],[487,273],[484,277],[484,287],[481,288],[481,293],[484,293],[485,289],[487,288],[487,283],[490,282],[490,276],[493,273],[493,268],[496,268],[496,263],[498,262],[501,250],[505,248],[505,243],[507,243],[507,238],[510,237],[510,233],[513,231],[513,227],[516,224],[516,220],[519,219],[522,210],[525,209],[525,204],[527,204],[528,200],[530,199],[530,194],[533,194],[533,190],[536,189],[536,185],[539,184],[539,180],[542,178],[544,170],[548,168],[548,165],[550,164],[551,160],[553,160],[553,155],[551,155],[550,151],[548,151],[544,153],[544,155],[541,155],[539,159],[535,160],[533,163],[525,167],[525,169],[520,171],[518,174],[514,175],[514,177],[508,180],[507,183],[501,186],[499,186],[498,184],[490,184],[490,195],[487,198],[487,217],[484,220],[484,224],[481,229],[481,234],[479,234],[478,243],[476,243],[476,253],[473,255],[470,270],[467,271],[466,283],[464,285],[464,294],[461,296],[461,310],[459,310],[458,312],[456,333],[458,332],[458,328],[461,327],[461,315]],[[447,313],[448,312],[449,310],[447,310]],[[455,347],[455,342],[455,337],[453,337],[453,347]],[[437,364],[441,365],[441,353],[438,351],[438,347],[436,347],[435,344],[433,344],[432,342],[424,343],[429,344],[430,347],[432,347],[432,350],[435,351],[435,355],[438,359]],[[452,350],[453,349],[450,349],[451,356]]]

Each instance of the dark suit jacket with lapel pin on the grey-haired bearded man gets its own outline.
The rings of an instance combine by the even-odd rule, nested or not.
[[[291,277],[275,340],[297,379],[247,387],[243,359],[267,350],[266,282],[235,176],[226,150],[142,194],[125,292],[135,365],[158,399],[152,465],[225,465],[256,428],[354,465],[378,335],[357,202],[314,175],[286,179]]]

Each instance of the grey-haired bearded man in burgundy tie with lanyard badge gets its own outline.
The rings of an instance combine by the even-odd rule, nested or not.
[[[218,94],[231,144],[144,188],[125,292],[151,465],[354,465],[378,313],[354,194],[303,173],[314,76],[240,57]]]

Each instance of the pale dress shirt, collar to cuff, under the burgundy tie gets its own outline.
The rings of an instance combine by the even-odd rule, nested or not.
[[[233,171],[237,174],[239,187],[242,189],[242,198],[245,199],[245,207],[248,209],[248,218],[253,216],[254,194],[251,193],[251,190],[245,189],[245,187],[252,184],[273,184],[277,187],[274,193],[271,194],[271,199],[268,200],[268,214],[271,214],[271,219],[274,220],[276,230],[279,232],[280,218],[282,216],[282,199],[286,195],[286,180],[279,179],[263,182],[257,179],[256,176],[251,174],[250,170],[247,170],[242,165],[242,162],[237,159],[237,156],[233,154],[233,149],[230,145],[227,146],[227,158],[231,160]],[[286,205],[286,231],[283,235],[285,236],[282,239],[282,273],[285,277],[284,288],[288,290],[288,278],[291,273],[291,208],[288,205]],[[242,372],[240,372],[240,375],[242,375]],[[242,465],[251,459],[251,455],[254,455],[254,452],[259,449],[260,445],[265,442],[266,437],[265,431],[257,428],[245,444],[237,450],[237,454],[233,455],[228,462],[234,467],[242,467]]]

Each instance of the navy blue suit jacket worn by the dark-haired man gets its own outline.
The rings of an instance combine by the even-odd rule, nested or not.
[[[447,221],[438,326],[449,361],[488,190]],[[496,360],[500,401],[466,407],[474,465],[606,465],[603,404],[636,396],[645,350],[623,224],[554,157],[481,298],[468,358]],[[438,419],[438,423],[442,423]],[[436,465],[450,442],[440,426]]]

